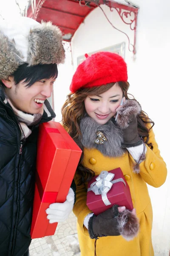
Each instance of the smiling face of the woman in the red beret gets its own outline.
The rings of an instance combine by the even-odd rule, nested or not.
[[[85,110],[98,124],[104,125],[116,114],[122,97],[122,89],[114,84],[105,93],[87,96],[84,100]]]

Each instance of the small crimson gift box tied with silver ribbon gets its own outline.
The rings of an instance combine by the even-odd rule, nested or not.
[[[125,206],[129,210],[133,209],[130,189],[125,180],[125,177],[123,176],[122,170],[120,168],[116,168],[109,171],[108,173],[110,172],[115,174],[115,176],[113,177],[113,180],[122,178],[126,186],[122,181],[119,181],[112,185],[111,189],[107,193],[107,198],[111,203],[109,205],[105,205],[101,195],[95,195],[95,193],[91,190],[88,191],[87,206],[89,209],[92,210],[92,212],[94,212],[95,215],[105,212],[107,209],[111,208],[114,204],[117,204],[118,206]],[[96,177],[98,177],[98,175],[94,176],[91,179],[91,181],[88,183],[88,189],[90,188],[91,184],[96,181]]]

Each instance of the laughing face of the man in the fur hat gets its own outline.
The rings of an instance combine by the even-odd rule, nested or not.
[[[42,112],[43,103],[51,96],[55,81],[54,78],[42,79],[32,84],[31,87],[26,87],[24,80],[17,86],[14,84],[13,77],[10,77],[9,80],[8,83],[3,81],[8,98],[15,108],[30,114]]]

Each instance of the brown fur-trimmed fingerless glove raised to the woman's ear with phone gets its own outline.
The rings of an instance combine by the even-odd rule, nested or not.
[[[118,116],[116,123],[123,132],[122,147],[129,148],[141,145],[137,128],[136,116],[141,112],[141,106],[135,99],[128,99],[117,111]]]

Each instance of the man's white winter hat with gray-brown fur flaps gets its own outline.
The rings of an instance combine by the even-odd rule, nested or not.
[[[8,79],[17,68],[28,63],[59,64],[65,59],[62,32],[51,22],[20,17],[14,22],[0,22],[0,80]]]

